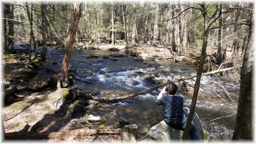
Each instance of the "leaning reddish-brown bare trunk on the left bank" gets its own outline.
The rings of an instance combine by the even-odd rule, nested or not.
[[[68,82],[69,60],[70,60],[70,57],[71,57],[71,50],[72,50],[73,41],[74,41],[74,37],[75,37],[75,34],[76,34],[77,26],[78,26],[78,23],[79,23],[79,20],[80,20],[80,17],[81,17],[82,4],[83,3],[80,4],[79,8],[77,8],[77,6],[75,6],[72,25],[70,26],[69,31],[68,31],[68,37],[67,37],[67,42],[66,42],[66,47],[65,47],[65,55],[64,55],[62,65],[61,65],[60,81],[61,81],[62,87],[68,87],[69,86],[69,82]],[[58,81],[57,87],[60,88],[59,81]]]

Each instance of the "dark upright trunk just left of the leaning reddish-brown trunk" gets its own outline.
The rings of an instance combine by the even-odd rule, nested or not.
[[[47,31],[47,28],[46,28],[46,15],[45,15],[46,13],[45,13],[45,11],[46,11],[46,5],[44,4],[44,2],[42,2],[42,4],[41,4],[41,16],[42,16],[41,33],[43,36],[43,40],[42,40],[43,51],[40,54],[42,61],[46,60],[46,39],[47,39],[46,31]]]

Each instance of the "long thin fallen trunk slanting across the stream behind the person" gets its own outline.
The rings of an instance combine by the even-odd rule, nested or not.
[[[222,71],[231,70],[231,69],[234,69],[234,68],[237,68],[237,66],[230,67],[230,68],[225,68],[225,69],[218,69],[218,70],[210,71],[210,72],[207,72],[207,73],[203,73],[202,76],[206,76],[206,75],[210,75],[210,74],[215,74],[215,73],[219,73],[219,72],[222,72]],[[172,82],[173,83],[177,83],[177,82],[180,82],[180,81],[189,80],[189,79],[193,79],[193,78],[196,78],[196,77],[197,77],[197,75],[186,77],[186,78],[182,78],[182,79],[178,79],[178,80],[173,80]],[[141,94],[144,94],[144,93],[148,93],[148,92],[154,91],[155,89],[157,89],[159,87],[163,87],[163,86],[165,86],[168,83],[170,83],[170,81],[162,83],[162,84],[159,84],[159,85],[157,85],[155,87],[152,87],[150,89],[147,89],[147,90],[144,90],[144,91],[141,91],[141,92],[137,92],[137,93],[133,93],[133,94],[128,94],[128,95],[124,95],[124,96],[118,96],[118,97],[100,97],[100,96],[96,97],[96,96],[92,96],[92,95],[88,95],[88,94],[83,94],[80,91],[77,92],[77,95],[85,97],[87,99],[97,100],[97,101],[114,101],[114,100],[121,100],[121,99],[125,99],[125,98],[134,97],[134,96],[137,96],[137,95],[141,95]]]

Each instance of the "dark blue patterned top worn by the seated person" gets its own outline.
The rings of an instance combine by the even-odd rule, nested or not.
[[[183,98],[181,96],[169,96],[168,93],[163,93],[160,99],[156,99],[156,104],[164,107],[164,121],[177,129],[182,129],[186,123],[186,116],[183,111]]]

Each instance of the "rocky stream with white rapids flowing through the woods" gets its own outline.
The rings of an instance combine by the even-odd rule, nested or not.
[[[60,73],[64,54],[63,48],[48,49],[43,65]],[[73,50],[69,64],[77,69],[76,78],[93,83],[85,84],[75,80],[74,87],[99,96],[107,93],[112,96],[126,95],[149,89],[167,80],[197,75],[193,64],[183,64],[174,60],[142,62],[133,58],[117,51]],[[40,73],[47,72],[41,70]],[[151,78],[152,75],[155,77]],[[192,86],[195,83],[189,80],[186,82]],[[239,89],[239,86],[223,82],[216,77],[202,77],[195,112],[206,123],[211,141],[232,138]],[[161,88],[158,90],[161,91]],[[177,94],[183,97],[184,106],[189,107],[191,91],[189,93],[179,89]],[[163,107],[155,103],[157,95],[158,91],[152,91],[127,100],[103,102],[112,106],[109,110],[101,110],[93,115],[103,115],[108,119],[108,124],[113,124],[119,117],[123,117],[131,124],[138,125],[137,137],[140,138],[146,134],[148,128],[164,118]],[[82,116],[77,118],[80,117]]]

